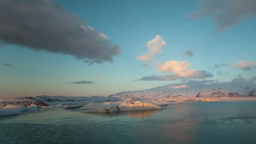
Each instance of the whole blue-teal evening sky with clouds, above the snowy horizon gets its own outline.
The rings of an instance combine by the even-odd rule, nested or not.
[[[0,97],[255,83],[255,17],[255,0],[1,0]]]

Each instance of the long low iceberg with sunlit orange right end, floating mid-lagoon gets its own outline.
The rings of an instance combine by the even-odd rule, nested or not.
[[[159,107],[154,104],[149,104],[149,103],[135,103],[135,104],[122,103],[119,106],[106,107],[103,109],[90,109],[84,112],[119,112],[119,111],[153,110],[153,109],[162,109],[162,107]]]

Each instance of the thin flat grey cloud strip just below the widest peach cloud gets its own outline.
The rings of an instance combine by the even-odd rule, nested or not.
[[[151,76],[145,76],[142,77],[139,80],[148,80],[148,81],[153,81],[153,80],[157,80],[157,81],[168,81],[168,80],[177,80],[181,77],[177,76],[177,75],[151,75]]]

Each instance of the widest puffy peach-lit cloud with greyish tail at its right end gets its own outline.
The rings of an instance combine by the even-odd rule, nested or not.
[[[164,73],[172,73],[179,77],[183,78],[197,78],[197,79],[204,79],[206,77],[212,77],[213,75],[202,71],[202,70],[192,70],[188,67],[190,63],[187,61],[165,61],[164,64],[159,64],[157,66],[157,71],[164,72]]]

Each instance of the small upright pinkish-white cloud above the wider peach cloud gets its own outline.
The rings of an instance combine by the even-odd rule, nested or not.
[[[162,53],[161,48],[165,46],[166,43],[163,40],[163,37],[156,35],[153,40],[147,42],[147,47],[149,49],[148,53],[136,57],[138,61],[155,61],[152,56],[155,56],[157,53]]]

